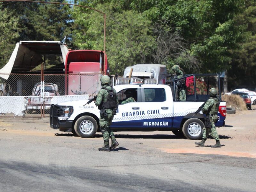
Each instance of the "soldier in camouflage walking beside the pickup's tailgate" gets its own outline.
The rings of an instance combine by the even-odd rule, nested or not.
[[[217,90],[214,88],[211,88],[209,90],[210,98],[206,101],[202,111],[204,114],[206,114],[206,119],[204,122],[204,128],[203,128],[203,139],[201,142],[195,142],[197,146],[204,147],[204,142],[208,138],[209,134],[216,140],[216,144],[211,146],[212,148],[220,148],[220,138],[216,131],[215,124],[219,117],[218,117],[218,111],[220,106],[220,101],[217,98]]]

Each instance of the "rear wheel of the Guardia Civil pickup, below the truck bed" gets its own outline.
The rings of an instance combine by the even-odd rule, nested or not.
[[[184,136],[191,140],[201,139],[203,136],[204,123],[197,118],[188,119],[182,127]]]

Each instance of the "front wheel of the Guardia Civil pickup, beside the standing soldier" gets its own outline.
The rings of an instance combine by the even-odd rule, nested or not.
[[[95,135],[98,129],[96,120],[91,116],[81,116],[76,120],[74,130],[76,135],[82,138],[90,138]]]

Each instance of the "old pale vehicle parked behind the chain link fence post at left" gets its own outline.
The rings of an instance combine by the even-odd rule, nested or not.
[[[58,85],[53,83],[44,83],[44,110],[51,107],[51,96],[60,95]],[[33,97],[34,96],[34,97]],[[41,83],[35,84],[32,95],[27,98],[27,113],[32,113],[34,110],[40,112],[43,100],[41,96]]]

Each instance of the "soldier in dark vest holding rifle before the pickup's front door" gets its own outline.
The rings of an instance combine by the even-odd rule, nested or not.
[[[110,77],[107,75],[100,78],[102,88],[95,100],[95,105],[100,109],[100,131],[104,140],[104,147],[99,148],[99,151],[110,151],[110,149],[114,149],[119,145],[116,141],[114,132],[110,129],[110,125],[118,107],[116,90],[110,86],[110,82]],[[109,138],[111,139],[110,148]]]

